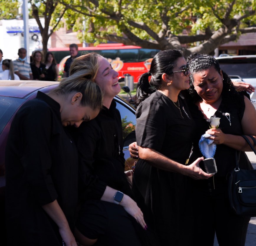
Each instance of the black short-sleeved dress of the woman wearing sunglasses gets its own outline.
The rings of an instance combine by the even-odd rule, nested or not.
[[[136,112],[136,140],[138,146],[155,149],[185,164],[191,151],[194,122],[183,98],[179,96],[178,100],[180,110],[158,91],[145,99]],[[150,218],[152,213],[161,245],[190,245],[192,218],[187,176],[163,171],[139,159],[133,190],[144,215]]]

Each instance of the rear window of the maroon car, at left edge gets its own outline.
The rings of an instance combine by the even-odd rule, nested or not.
[[[0,134],[24,101],[22,98],[0,97]]]

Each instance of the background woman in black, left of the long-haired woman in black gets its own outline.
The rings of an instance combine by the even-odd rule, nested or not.
[[[33,74],[33,80],[44,80],[45,64],[42,63],[42,53],[37,50],[33,53],[33,61],[30,63],[30,67]]]

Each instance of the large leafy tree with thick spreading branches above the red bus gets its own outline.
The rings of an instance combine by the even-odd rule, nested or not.
[[[59,1],[76,12],[74,28],[82,30],[82,20],[86,22],[81,38],[87,42],[181,49],[186,56],[212,52],[242,33],[256,32],[255,0]]]

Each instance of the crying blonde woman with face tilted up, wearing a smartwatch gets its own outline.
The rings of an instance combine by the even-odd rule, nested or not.
[[[73,132],[79,150],[81,198],[75,236],[82,245],[139,246],[138,233],[146,224],[124,174],[122,122],[113,100],[121,89],[118,72],[96,53],[73,60],[70,74],[80,72],[87,73],[85,77],[94,80],[104,96],[99,115]]]

